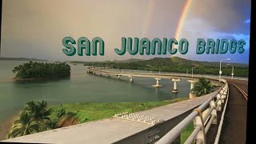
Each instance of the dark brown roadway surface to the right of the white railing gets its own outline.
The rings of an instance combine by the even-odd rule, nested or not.
[[[246,143],[246,116],[247,100],[237,86],[248,92],[248,82],[226,79],[230,87],[229,101],[222,125],[222,134],[219,143],[242,144]],[[233,85],[234,84],[234,85]]]

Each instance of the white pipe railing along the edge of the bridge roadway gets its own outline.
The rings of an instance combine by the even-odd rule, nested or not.
[[[222,110],[222,104],[229,94],[229,87],[226,80],[222,79],[224,86],[218,90],[218,93],[214,94],[203,102],[201,106],[194,109],[191,114],[178,123],[172,130],[159,139],[157,144],[166,144],[173,142],[178,135],[182,133],[182,130],[194,121],[194,131],[186,139],[186,144],[192,142],[206,143],[206,134],[212,124],[217,124],[217,110]],[[216,99],[216,100],[215,100]]]

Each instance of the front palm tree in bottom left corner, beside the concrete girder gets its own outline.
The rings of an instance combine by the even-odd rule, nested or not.
[[[40,131],[40,126],[33,121],[32,115],[28,112],[19,114],[18,120],[14,122],[13,129],[7,134],[7,138],[15,138],[26,134],[34,134]]]

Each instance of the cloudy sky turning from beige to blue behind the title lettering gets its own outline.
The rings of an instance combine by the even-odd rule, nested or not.
[[[0,57],[50,61],[170,58],[170,54],[120,56],[114,48],[121,46],[122,37],[174,38],[179,26],[178,38],[188,40],[189,51],[176,56],[248,63],[250,7],[250,0],[3,0]],[[105,55],[66,56],[62,39],[67,36],[75,41],[100,37],[105,42]],[[196,54],[197,38],[244,39],[246,50],[243,54]]]

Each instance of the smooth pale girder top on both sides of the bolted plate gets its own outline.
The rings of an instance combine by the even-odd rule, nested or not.
[[[189,99],[151,110],[144,110],[137,114],[154,116],[169,120],[193,109],[205,102],[212,94],[200,98]],[[19,138],[7,139],[2,142],[43,142],[43,143],[112,143],[130,135],[146,130],[152,125],[123,120],[106,118],[96,122],[86,122],[75,126],[67,126],[55,130],[48,130],[37,134],[30,134]]]

